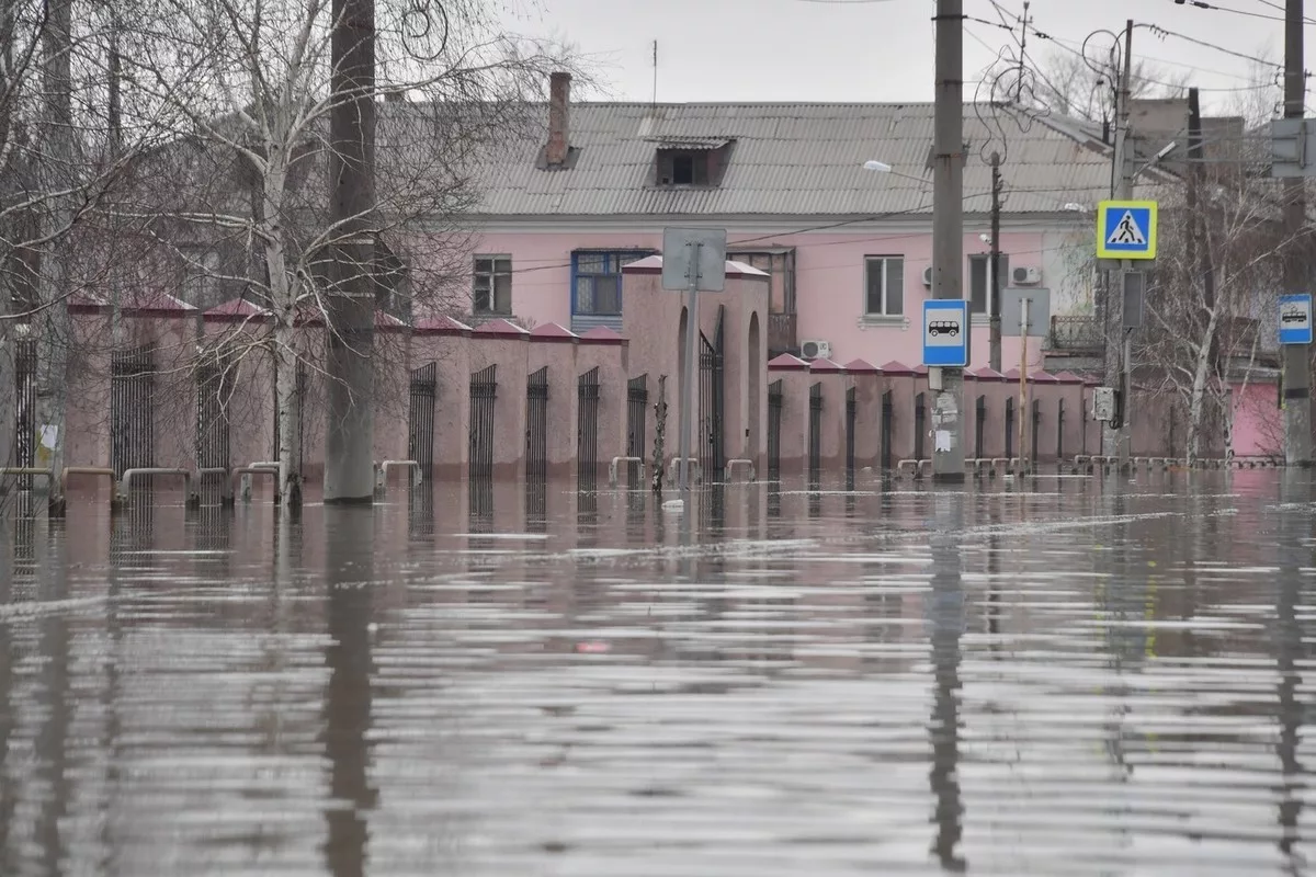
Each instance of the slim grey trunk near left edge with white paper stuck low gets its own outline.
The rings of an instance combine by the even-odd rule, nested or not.
[[[47,0],[49,18],[42,36],[45,53],[45,149],[41,162],[41,184],[58,191],[71,181],[72,170],[72,93],[70,75],[72,0]],[[68,360],[74,344],[72,321],[68,317],[68,235],[72,212],[67,197],[53,199],[46,205],[43,233],[50,243],[41,254],[39,291],[43,305],[39,321],[41,356],[37,379],[37,465],[51,469],[50,509],[62,514],[59,496],[61,472],[64,465],[66,409],[68,398]]]

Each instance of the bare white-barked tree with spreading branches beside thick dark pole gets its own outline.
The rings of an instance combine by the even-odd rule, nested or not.
[[[296,376],[322,373],[324,354],[299,326],[332,325],[333,249],[350,226],[375,241],[365,270],[386,313],[465,310],[454,279],[468,273],[463,216],[478,202],[476,174],[491,150],[524,137],[529,101],[567,58],[501,32],[478,0],[380,0],[368,95],[380,108],[376,208],[334,224],[329,0],[155,3],[174,22],[175,49],[125,58],[125,93],[166,108],[158,118],[175,142],[138,168],[133,214],[217,296],[267,309],[268,331],[234,331],[212,348],[228,368],[272,356],[279,496],[292,506],[304,433]]]

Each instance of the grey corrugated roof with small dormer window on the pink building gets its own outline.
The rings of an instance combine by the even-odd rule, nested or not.
[[[547,109],[544,109],[546,121]],[[540,170],[544,128],[488,158],[488,217],[845,216],[932,212],[932,104],[571,105],[570,170]],[[1004,138],[1003,138],[1004,134]],[[983,153],[1004,154],[1007,214],[1058,213],[1108,197],[1109,151],[1071,128],[990,107],[965,108],[965,210],[991,205]],[[655,150],[679,141],[734,141],[717,187],[658,188]],[[894,174],[865,171],[867,159]],[[908,175],[908,176],[900,176]],[[909,176],[917,179],[908,179]]]

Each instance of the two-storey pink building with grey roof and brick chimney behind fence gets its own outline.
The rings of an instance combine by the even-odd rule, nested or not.
[[[471,317],[620,330],[621,266],[666,225],[725,227],[732,258],[769,272],[769,354],[917,363],[930,293],[932,104],[575,104],[554,79],[546,142],[495,166],[476,217]],[[963,287],[973,364],[988,364],[991,150],[1004,151],[1001,287],[1048,288],[1090,313],[1092,205],[1105,149],[1049,120],[965,110]],[[1007,145],[999,128],[1008,129]],[[995,139],[994,139],[995,134]],[[891,172],[865,170],[880,160]],[[1069,209],[1067,209],[1069,206]],[[1041,339],[1029,368],[1041,368]],[[1019,341],[1003,344],[1019,367]]]

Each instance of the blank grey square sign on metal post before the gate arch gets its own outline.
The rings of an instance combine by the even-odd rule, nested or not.
[[[695,385],[699,381],[699,292],[721,292],[726,288],[726,229],[663,229],[662,288],[684,289],[686,305],[686,381],[680,387],[680,454],[679,486],[688,490],[690,446]]]

